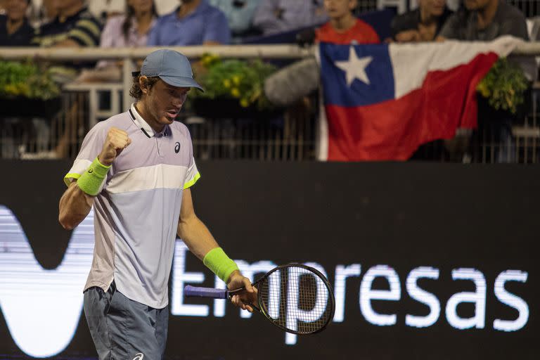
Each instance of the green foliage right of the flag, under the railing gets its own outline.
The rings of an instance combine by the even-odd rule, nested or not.
[[[527,77],[520,66],[500,58],[478,84],[477,91],[494,109],[515,114],[518,106],[525,102],[527,86]]]

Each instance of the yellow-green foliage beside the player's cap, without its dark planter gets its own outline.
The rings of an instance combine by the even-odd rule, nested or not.
[[[258,110],[271,108],[264,96],[264,79],[276,71],[274,65],[259,59],[221,60],[212,54],[205,54],[200,61],[203,68],[197,73],[198,82],[204,93],[195,91],[195,96],[204,98],[238,98],[240,106],[256,106]]]

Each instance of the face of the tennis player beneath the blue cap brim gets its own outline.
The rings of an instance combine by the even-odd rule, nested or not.
[[[146,98],[148,112],[152,117],[150,121],[158,127],[172,124],[186,101],[189,89],[171,86],[161,79],[156,82]]]

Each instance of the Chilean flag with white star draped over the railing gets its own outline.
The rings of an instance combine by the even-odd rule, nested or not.
[[[521,41],[319,44],[319,160],[407,160],[474,129],[478,82]]]

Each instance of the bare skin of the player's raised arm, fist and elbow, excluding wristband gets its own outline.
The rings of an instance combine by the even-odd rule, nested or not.
[[[130,143],[131,139],[127,136],[126,131],[111,127],[105,143],[103,143],[103,149],[98,155],[98,160],[105,166],[113,164],[115,158]],[[94,196],[84,193],[77,186],[77,180],[73,181],[60,198],[58,221],[64,229],[74,229],[88,215],[93,203]]]

